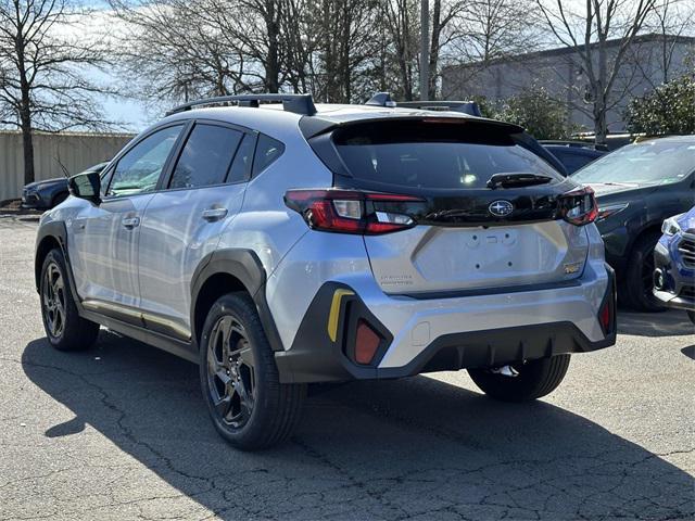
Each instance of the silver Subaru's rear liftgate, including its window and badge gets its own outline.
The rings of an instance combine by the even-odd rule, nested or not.
[[[440,293],[579,277],[589,241],[561,218],[558,195],[576,188],[520,145],[504,126],[431,118],[376,122],[336,130],[346,176],[336,185],[416,195],[421,203],[378,203],[418,226],[366,236],[377,282],[387,293]],[[508,183],[492,183],[510,174]],[[540,181],[517,182],[521,175]],[[375,203],[377,204],[377,203]]]

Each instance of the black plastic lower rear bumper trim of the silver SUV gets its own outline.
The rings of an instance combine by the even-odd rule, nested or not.
[[[611,280],[604,301],[612,298],[615,303],[612,270],[609,270],[609,278]],[[345,354],[349,350],[341,344],[349,342],[348,331],[352,320],[348,316],[348,308],[343,309],[339,322],[339,330],[344,333],[331,342],[326,331],[330,297],[341,288],[348,287],[334,282],[321,287],[300,326],[292,347],[275,354],[281,382],[389,379],[421,372],[497,367],[559,354],[596,351],[616,343],[615,322],[604,340],[592,342],[574,323],[558,321],[445,334],[433,340],[405,366],[358,366],[351,361]],[[356,295],[353,298],[362,304]]]

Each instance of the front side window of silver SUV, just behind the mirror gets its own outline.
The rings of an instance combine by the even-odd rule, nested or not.
[[[163,128],[121,157],[106,195],[134,195],[154,190],[181,128],[182,125]]]

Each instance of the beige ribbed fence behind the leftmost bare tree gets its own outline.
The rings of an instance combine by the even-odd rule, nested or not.
[[[77,174],[96,163],[111,160],[131,138],[125,134],[36,132],[36,180],[62,177],[60,163],[71,174]],[[0,131],[0,201],[20,198],[23,186],[22,135],[18,131]]]

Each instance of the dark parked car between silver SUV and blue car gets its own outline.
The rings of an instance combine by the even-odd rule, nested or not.
[[[664,219],[695,204],[695,136],[629,144],[577,171],[598,200],[596,226],[615,268],[624,304],[661,308],[652,292],[654,246]]]

